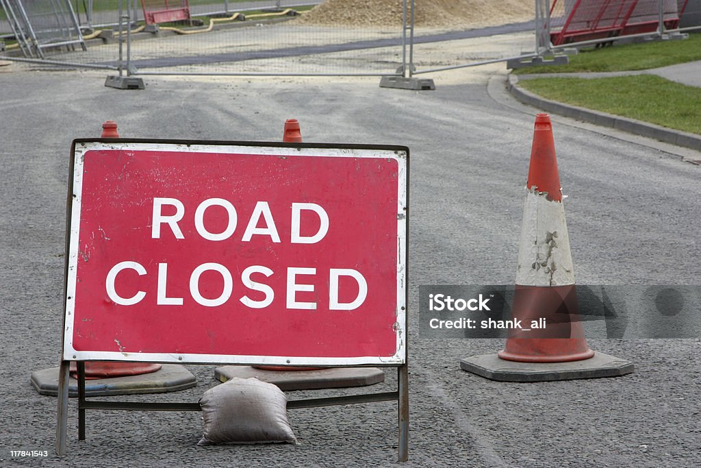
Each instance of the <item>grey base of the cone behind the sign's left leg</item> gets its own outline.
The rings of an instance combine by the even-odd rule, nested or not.
[[[58,395],[58,370],[54,367],[32,373],[32,385],[42,395]],[[86,396],[166,393],[195,387],[195,376],[183,366],[163,364],[161,370],[142,375],[86,380]],[[68,379],[68,396],[78,396],[78,380]]]

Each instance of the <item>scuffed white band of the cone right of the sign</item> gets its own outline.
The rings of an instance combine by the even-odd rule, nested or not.
[[[565,210],[559,201],[528,190],[519,244],[516,284],[567,286],[574,284],[574,267]]]

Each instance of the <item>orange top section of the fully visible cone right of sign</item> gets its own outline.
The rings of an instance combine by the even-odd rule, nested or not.
[[[555,143],[552,138],[552,123],[548,114],[536,115],[531,147],[531,164],[526,187],[538,192],[547,192],[547,199],[562,201],[560,177],[555,159]]]

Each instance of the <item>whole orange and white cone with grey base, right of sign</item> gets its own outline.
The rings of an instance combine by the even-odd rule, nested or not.
[[[632,363],[587,346],[562,205],[552,123],[536,116],[519,243],[513,323],[505,349],[472,356],[461,368],[493,380],[535,382],[613,377]]]

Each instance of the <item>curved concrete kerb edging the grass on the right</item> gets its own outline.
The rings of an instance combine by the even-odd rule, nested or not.
[[[571,119],[616,128],[628,133],[634,133],[635,135],[654,138],[655,140],[660,140],[672,145],[701,151],[701,135],[672,130],[671,128],[665,128],[655,125],[654,123],[627,119],[626,117],[606,114],[606,112],[599,112],[592,109],[563,104],[562,102],[547,100],[524,90],[524,88],[518,86],[518,83],[519,77],[514,74],[509,74],[507,81],[508,91],[514,96],[514,98],[520,102],[523,102],[524,104],[538,107],[539,109],[543,109],[547,112],[553,112],[554,114],[570,117]]]

